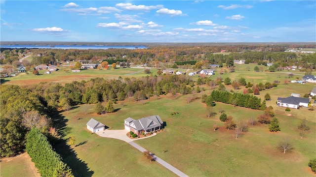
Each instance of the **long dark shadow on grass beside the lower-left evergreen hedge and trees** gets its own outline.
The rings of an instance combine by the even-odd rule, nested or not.
[[[54,127],[58,129],[61,137],[68,134],[70,127],[67,127],[65,116],[62,116],[60,112],[54,112],[52,114],[52,122]],[[85,142],[79,143],[78,146],[85,144]],[[75,177],[91,177],[94,172],[90,170],[87,164],[77,157],[76,151],[74,151],[69,145],[67,145],[67,140],[62,139],[58,143],[52,145],[55,151],[60,154],[65,162],[73,171]]]

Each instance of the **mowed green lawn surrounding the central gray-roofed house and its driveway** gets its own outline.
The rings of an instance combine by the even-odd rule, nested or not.
[[[211,90],[207,88],[197,96],[210,92]],[[94,160],[97,156],[102,156],[100,158],[103,159],[104,168],[111,163],[112,166],[126,169],[126,164],[129,163],[140,161],[139,163],[143,164],[140,160],[142,154],[124,142],[89,134],[85,130],[85,123],[90,118],[95,118],[110,129],[123,129],[125,118],[138,119],[152,115],[159,115],[166,122],[165,130],[157,136],[137,140],[136,143],[189,176],[313,176],[307,164],[316,153],[315,111],[301,109],[285,112],[284,108],[276,109],[280,132],[271,133],[268,130],[269,125],[257,124],[250,126],[249,131],[236,140],[233,131],[223,127],[224,123],[219,120],[220,114],[208,118],[206,106],[201,103],[200,98],[188,103],[188,96],[178,95],[178,98],[174,99],[166,95],[159,99],[153,97],[136,103],[127,99],[124,104],[114,105],[116,109],[119,109],[118,112],[107,116],[93,113],[84,115],[84,112],[91,112],[94,105],[81,105],[70,112],[64,112],[66,118],[69,119],[67,124],[70,131],[67,134],[78,137],[78,143],[87,141],[75,150],[78,157],[88,163],[96,176],[109,174],[110,170],[97,168],[98,161]],[[250,118],[263,114],[263,111],[217,103],[213,112],[218,113],[219,110],[225,110],[227,115],[233,116],[237,124],[239,121],[248,121]],[[171,115],[173,112],[179,114]],[[306,132],[306,137],[301,139],[297,126],[303,118],[307,118],[311,129]],[[214,123],[220,127],[215,132],[213,131]],[[291,153],[283,154],[276,148],[283,138],[291,140],[294,147]],[[124,160],[118,158],[118,154],[121,153],[125,156]],[[155,162],[149,163],[149,165],[153,164]],[[128,169],[129,175],[132,175],[134,170],[138,172],[144,169],[139,164],[134,168]],[[111,170],[113,172],[111,175],[120,176],[124,173],[120,168],[116,170],[111,168]],[[170,174],[166,173],[163,176],[170,176]]]

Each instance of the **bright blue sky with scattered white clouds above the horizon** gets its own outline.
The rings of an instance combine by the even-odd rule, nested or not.
[[[0,41],[316,41],[315,0],[0,0],[0,9]]]

